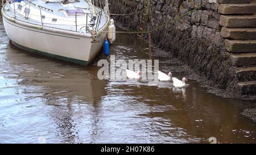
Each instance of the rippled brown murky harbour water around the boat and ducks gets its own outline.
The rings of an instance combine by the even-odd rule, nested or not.
[[[256,143],[256,124],[240,114],[255,101],[209,93],[167,53],[153,57],[160,70],[188,77],[189,87],[100,81],[95,65],[16,48],[2,19],[0,31],[0,143]],[[116,58],[148,58],[134,35],[118,35],[110,48]]]

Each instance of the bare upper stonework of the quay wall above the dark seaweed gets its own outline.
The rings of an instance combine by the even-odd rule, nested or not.
[[[208,0],[151,0],[152,7],[152,22],[155,26],[160,26],[167,21],[170,21],[177,16],[183,15],[188,11],[195,9],[208,2]],[[111,11],[115,13],[131,12],[135,10],[140,10],[143,7],[143,1],[110,1]],[[121,9],[117,9],[120,7]],[[137,14],[141,15],[141,14]],[[192,38],[204,38],[209,40],[216,47],[224,47],[224,40],[220,36],[221,26],[219,24],[220,14],[218,13],[218,3],[208,3],[202,6],[199,10],[189,13],[183,18],[177,20],[173,24],[169,24],[166,28],[170,28],[173,25],[180,31],[185,31],[191,29]],[[133,16],[122,16],[115,18],[119,23],[128,25],[126,27],[132,29],[138,29],[139,26],[139,16],[135,19],[130,20]],[[131,22],[131,23],[130,23]],[[147,28],[150,28],[148,26]],[[151,27],[152,28],[152,27]]]

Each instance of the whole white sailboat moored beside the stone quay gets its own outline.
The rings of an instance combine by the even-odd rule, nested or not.
[[[2,16],[18,47],[86,65],[104,44],[108,10],[104,0],[11,0]]]

